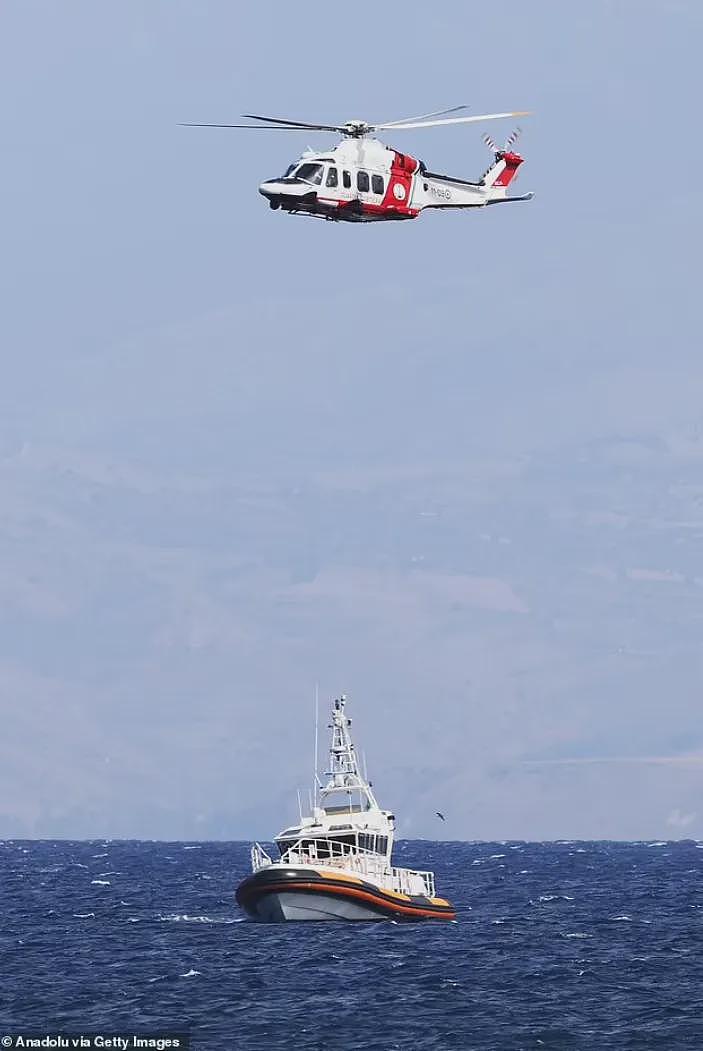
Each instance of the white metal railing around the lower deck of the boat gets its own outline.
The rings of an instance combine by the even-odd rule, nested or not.
[[[331,868],[344,868],[358,875],[370,875],[401,894],[422,894],[426,898],[435,897],[434,872],[419,871],[411,868],[395,868],[388,864],[382,854],[351,843],[339,843],[337,840],[323,839],[297,840],[281,856],[284,865],[325,865]],[[271,859],[259,843],[251,850],[251,867],[253,871],[271,865]]]

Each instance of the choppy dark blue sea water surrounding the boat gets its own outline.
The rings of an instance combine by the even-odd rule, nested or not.
[[[0,843],[0,1030],[198,1051],[703,1049],[703,844],[400,842],[449,924],[247,921],[248,844]]]

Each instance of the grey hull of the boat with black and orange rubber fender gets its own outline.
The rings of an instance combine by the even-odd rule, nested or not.
[[[307,865],[260,869],[240,884],[236,901],[262,923],[456,919],[453,906],[441,898],[400,894],[356,875]]]

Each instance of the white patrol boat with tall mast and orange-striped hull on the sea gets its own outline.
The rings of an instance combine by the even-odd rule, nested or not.
[[[450,902],[437,898],[433,872],[397,868],[392,862],[395,817],[382,810],[361,774],[351,739],[344,695],[332,704],[326,783],[315,776],[311,813],[275,837],[278,857],[251,848],[251,874],[236,902],[252,920],[418,921],[455,920]]]

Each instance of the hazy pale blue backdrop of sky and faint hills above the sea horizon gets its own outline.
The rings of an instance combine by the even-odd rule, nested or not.
[[[703,8],[290,11],[0,5],[0,837],[268,839],[318,683],[400,836],[703,839]],[[181,126],[458,104],[530,204],[283,215],[305,136]]]

